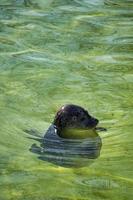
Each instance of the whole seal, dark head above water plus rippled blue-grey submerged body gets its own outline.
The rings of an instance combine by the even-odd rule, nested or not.
[[[101,138],[96,132],[98,120],[77,105],[65,105],[57,112],[40,147],[31,151],[41,160],[61,166],[83,166],[100,155]]]

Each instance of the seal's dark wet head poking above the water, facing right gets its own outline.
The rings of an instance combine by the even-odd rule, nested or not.
[[[98,119],[92,117],[84,108],[69,104],[59,109],[52,124],[57,129],[57,134],[64,138],[64,133],[68,130],[95,129],[98,122]],[[71,138],[71,135],[69,136]]]

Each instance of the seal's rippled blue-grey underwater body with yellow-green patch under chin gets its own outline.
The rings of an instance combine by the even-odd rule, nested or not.
[[[32,144],[30,151],[38,158],[63,167],[84,167],[100,156],[102,140],[96,130],[71,129],[60,137],[57,129],[51,125],[44,137],[36,131],[26,131],[29,137],[40,143]],[[71,137],[70,137],[71,136]],[[68,138],[69,137],[69,138]]]

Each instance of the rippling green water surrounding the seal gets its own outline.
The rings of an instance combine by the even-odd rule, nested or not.
[[[0,200],[132,200],[133,2],[31,3],[0,1]],[[39,160],[24,131],[66,103],[107,128],[82,168]]]

